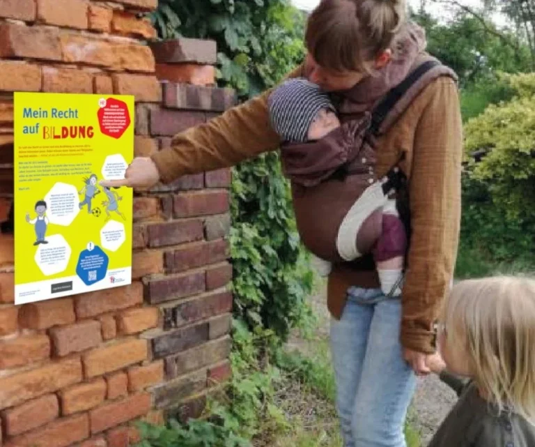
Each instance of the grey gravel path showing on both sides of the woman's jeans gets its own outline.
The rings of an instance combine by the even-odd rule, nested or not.
[[[326,305],[326,287],[322,285],[318,292],[311,297],[311,305],[318,315],[319,338],[327,338],[329,335],[329,314]],[[304,354],[307,352],[309,342],[302,340],[299,335],[293,335],[288,345],[299,349]],[[421,434],[421,445],[425,447],[440,422],[446,416],[451,406],[456,401],[456,396],[451,389],[437,379],[429,376],[418,380],[417,391],[412,401],[410,422],[414,429]]]

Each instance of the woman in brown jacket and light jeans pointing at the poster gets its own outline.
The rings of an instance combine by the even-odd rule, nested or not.
[[[309,17],[307,61],[293,76],[304,75],[370,109],[366,86],[386,82],[383,90],[393,87],[402,79],[385,75],[396,67],[392,55],[403,62],[413,54],[396,50],[405,25],[404,0],[323,0]],[[423,42],[418,45],[423,51]],[[277,148],[268,96],[176,135],[169,149],[135,159],[124,181],[107,184],[148,188]],[[378,140],[378,176],[405,156],[401,168],[409,181],[412,236],[401,298],[383,296],[369,271],[338,264],[329,275],[337,406],[346,447],[405,446],[403,421],[415,374],[429,372],[434,322],[456,257],[461,132],[456,83],[440,77]]]

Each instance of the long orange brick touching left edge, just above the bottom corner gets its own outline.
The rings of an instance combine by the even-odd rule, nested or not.
[[[48,394],[3,412],[2,420],[8,436],[15,436],[45,425],[59,417],[58,398]]]

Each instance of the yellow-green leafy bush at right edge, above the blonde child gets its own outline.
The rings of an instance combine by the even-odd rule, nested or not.
[[[535,75],[504,77],[515,93],[465,126],[463,178],[466,248],[494,262],[535,265]],[[481,161],[472,159],[483,151]]]

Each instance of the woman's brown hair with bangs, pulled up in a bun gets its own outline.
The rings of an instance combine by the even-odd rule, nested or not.
[[[322,0],[309,16],[305,43],[320,66],[369,72],[405,23],[405,0]]]

